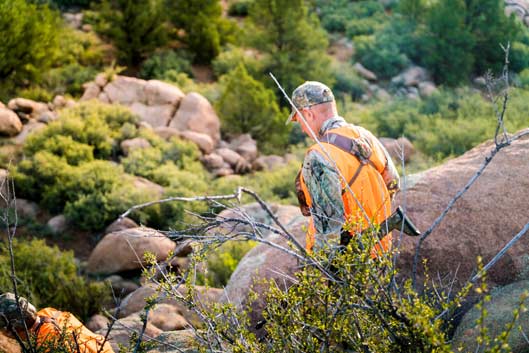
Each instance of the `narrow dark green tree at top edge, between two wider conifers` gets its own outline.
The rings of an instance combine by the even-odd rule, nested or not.
[[[219,0],[167,2],[173,24],[185,31],[183,41],[195,60],[208,63],[220,52],[222,7]]]

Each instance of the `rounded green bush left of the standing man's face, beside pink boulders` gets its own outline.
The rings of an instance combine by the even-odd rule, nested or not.
[[[242,64],[222,77],[221,85],[217,111],[225,133],[249,133],[265,151],[283,149],[287,113],[279,110],[274,92],[253,79]]]

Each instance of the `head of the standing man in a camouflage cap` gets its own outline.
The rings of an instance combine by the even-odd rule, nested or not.
[[[306,121],[303,121],[303,118],[292,108],[286,124],[298,121],[301,129],[309,136],[311,136],[309,130],[318,134],[325,120],[338,115],[331,89],[321,82],[307,81],[296,88],[292,93],[292,103],[303,114]]]

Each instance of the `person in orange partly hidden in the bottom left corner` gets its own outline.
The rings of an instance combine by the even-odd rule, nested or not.
[[[103,336],[87,329],[72,314],[53,308],[37,311],[23,297],[18,302],[20,311],[13,293],[0,295],[0,330],[7,336],[33,342],[39,352],[114,353]]]

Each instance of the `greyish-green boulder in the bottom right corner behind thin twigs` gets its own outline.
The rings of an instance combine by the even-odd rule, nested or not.
[[[491,292],[490,301],[485,303],[487,316],[484,319],[483,327],[487,329],[489,337],[499,336],[505,327],[513,320],[513,311],[520,308],[520,298],[529,289],[529,281],[520,281],[508,286],[497,288]],[[481,325],[477,323],[481,317],[481,310],[477,307],[470,309],[462,318],[453,337],[452,347],[463,348],[463,352],[478,352],[477,338],[480,335]],[[527,338],[524,337],[518,327],[524,332],[529,329],[529,312],[520,311],[520,316],[511,331],[507,343],[509,352],[524,353],[528,351]]]

